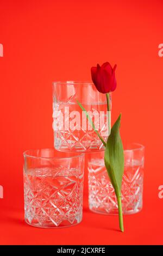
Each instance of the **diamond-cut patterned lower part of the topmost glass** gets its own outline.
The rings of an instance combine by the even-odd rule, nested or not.
[[[99,120],[103,120],[102,127],[100,127],[99,122],[99,134],[103,137],[104,141],[108,138],[108,126],[107,126],[107,115],[106,115],[106,105],[83,105],[87,111],[97,112]],[[65,111],[65,109],[68,109]],[[76,111],[80,114],[80,122],[77,124],[76,130],[71,130],[71,120],[70,113]],[[100,112],[104,112],[103,115]],[[101,118],[101,119],[100,119]],[[94,121],[94,120],[93,120]],[[53,125],[58,127],[54,129],[54,148],[58,150],[65,151],[96,151],[103,150],[104,146],[101,140],[98,138],[97,134],[93,129],[90,129],[90,124],[86,121],[86,129],[83,127],[82,109],[77,104],[67,104],[67,103],[53,103]],[[66,128],[65,128],[66,126]],[[96,126],[96,125],[95,125]],[[96,126],[97,127],[97,126]],[[67,129],[68,128],[68,129]]]

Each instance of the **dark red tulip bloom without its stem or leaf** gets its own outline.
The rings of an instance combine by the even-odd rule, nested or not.
[[[109,62],[105,62],[102,66],[92,66],[91,76],[96,89],[100,93],[110,93],[116,89],[117,82],[115,78],[115,69],[112,68]]]

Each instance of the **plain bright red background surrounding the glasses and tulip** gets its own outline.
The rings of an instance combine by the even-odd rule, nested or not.
[[[1,244],[161,244],[163,2],[0,0]],[[53,147],[52,81],[91,80],[97,62],[117,64],[112,123],[122,112],[124,142],[146,147],[143,210],[118,218],[87,207],[83,222],[38,229],[23,220],[24,150]]]

